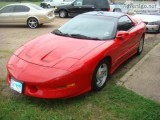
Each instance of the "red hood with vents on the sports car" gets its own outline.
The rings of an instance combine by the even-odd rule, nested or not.
[[[38,37],[14,54],[19,58],[46,67],[59,66],[61,63],[73,65],[105,41],[75,39],[57,36],[52,33]]]

